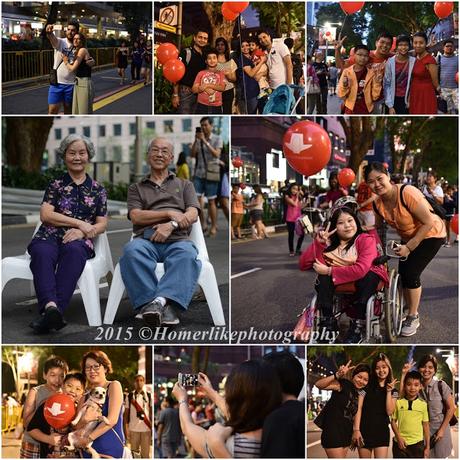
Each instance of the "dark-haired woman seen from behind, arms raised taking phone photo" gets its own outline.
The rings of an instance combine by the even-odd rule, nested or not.
[[[260,458],[265,417],[281,404],[281,385],[274,368],[256,360],[234,367],[225,383],[225,398],[205,374],[199,374],[198,382],[226,423],[216,423],[209,430],[195,425],[187,390],[176,383],[173,395],[179,401],[181,427],[195,451],[205,458]]]

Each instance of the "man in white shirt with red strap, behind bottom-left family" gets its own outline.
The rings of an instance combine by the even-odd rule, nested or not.
[[[125,435],[131,449],[139,452],[141,458],[151,458],[152,445],[152,395],[144,388],[145,378],[136,375],[134,391],[125,398],[125,413],[123,417]]]

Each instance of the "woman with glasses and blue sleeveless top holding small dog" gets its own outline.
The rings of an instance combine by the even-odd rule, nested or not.
[[[108,419],[109,424],[100,423],[96,429],[81,440],[76,447],[91,447],[99,455],[112,458],[122,458],[125,445],[123,434],[123,389],[118,380],[108,381],[106,376],[112,372],[112,363],[103,351],[89,351],[82,360],[82,372],[88,382],[88,390],[103,387],[107,390],[106,400],[102,406],[102,415]],[[85,398],[79,404],[77,411],[83,405]],[[77,429],[79,426],[77,425]],[[83,451],[83,457],[91,455]]]

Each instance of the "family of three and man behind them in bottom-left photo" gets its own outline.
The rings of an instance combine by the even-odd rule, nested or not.
[[[45,383],[32,387],[24,401],[19,458],[91,458],[94,452],[101,457],[132,458],[125,456],[128,443],[142,458],[150,458],[152,399],[145,377],[137,375],[134,390],[125,394],[119,381],[108,379],[112,372],[109,357],[100,350],[86,352],[81,371],[70,373],[63,358],[49,357],[43,367]],[[83,411],[92,390],[100,388],[105,393],[100,407],[103,418],[94,409]],[[71,398],[76,414],[84,413],[75,425],[70,423],[71,416],[66,426],[55,428],[45,414],[48,398],[57,394]],[[89,424],[94,420],[97,422],[92,427]]]

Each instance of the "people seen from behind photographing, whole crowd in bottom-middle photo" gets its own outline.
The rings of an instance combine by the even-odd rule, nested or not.
[[[198,374],[203,399],[190,402],[179,382],[160,404],[156,453],[176,458],[179,451],[203,458],[305,458],[305,411],[298,400],[304,385],[300,361],[290,352],[236,365],[224,394]]]

